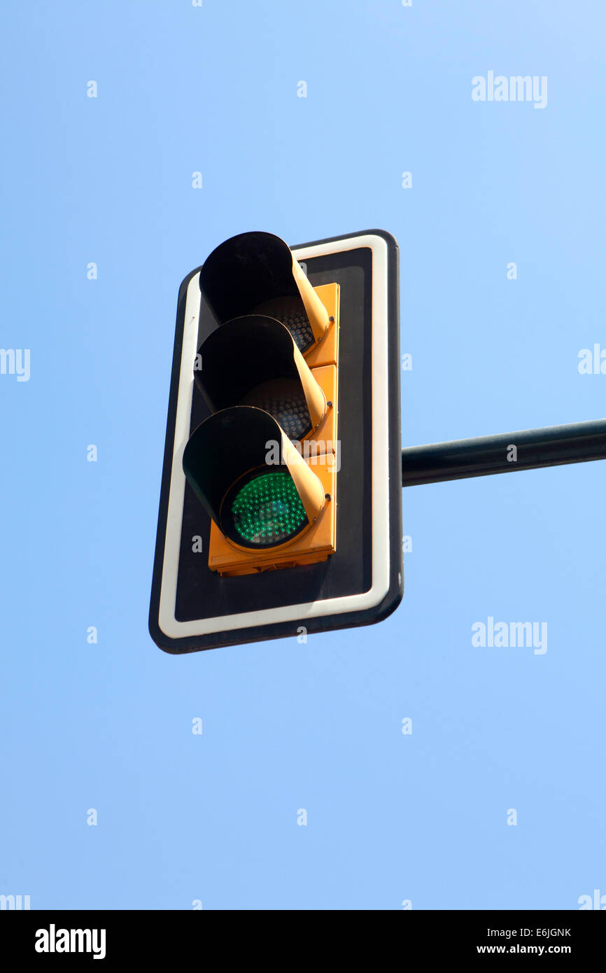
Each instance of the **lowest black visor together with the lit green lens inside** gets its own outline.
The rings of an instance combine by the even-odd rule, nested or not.
[[[235,406],[197,426],[183,453],[183,469],[226,537],[242,547],[267,548],[291,540],[309,523],[281,460],[275,419],[261,409]]]

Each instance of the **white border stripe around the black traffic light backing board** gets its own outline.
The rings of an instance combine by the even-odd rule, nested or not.
[[[208,635],[218,631],[237,631],[252,626],[296,622],[299,619],[364,611],[379,604],[389,590],[389,387],[388,387],[388,281],[387,243],[374,234],[341,238],[330,243],[293,250],[298,261],[310,260],[343,250],[369,247],[373,254],[372,299],[372,383],[373,383],[373,569],[371,588],[359,595],[343,595],[320,601],[294,603],[280,608],[240,612],[215,618],[179,622],[175,618],[179,551],[185,496],[183,450],[190,435],[194,362],[197,351],[197,325],[200,307],[199,272],[190,280],[183,324],[183,344],[179,370],[177,414],[172,450],[170,489],[160,584],[159,626],[168,638]],[[342,322],[341,322],[342,327]]]

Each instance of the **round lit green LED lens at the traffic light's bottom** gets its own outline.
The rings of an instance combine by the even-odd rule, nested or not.
[[[275,470],[250,480],[231,505],[236,535],[248,544],[280,544],[298,533],[307,515],[290,473]]]

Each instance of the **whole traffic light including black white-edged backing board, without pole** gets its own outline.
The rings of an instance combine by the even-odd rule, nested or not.
[[[401,520],[395,240],[233,236],[179,291],[153,638],[379,621],[402,597]]]

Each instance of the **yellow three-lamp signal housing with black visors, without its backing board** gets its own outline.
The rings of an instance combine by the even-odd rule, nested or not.
[[[218,321],[194,367],[213,414],[183,469],[212,521],[208,566],[231,576],[326,560],[337,537],[339,285],[316,291],[283,240],[240,234],[207,258],[199,286]]]

